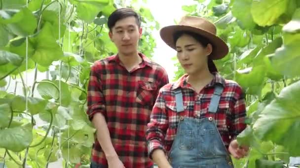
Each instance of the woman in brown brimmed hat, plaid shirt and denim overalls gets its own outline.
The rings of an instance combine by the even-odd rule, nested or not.
[[[159,91],[147,130],[150,158],[159,168],[232,168],[229,153],[242,158],[248,147],[235,140],[246,127],[242,88],[212,61],[228,54],[227,45],[212,23],[194,16],[160,35],[187,74]]]

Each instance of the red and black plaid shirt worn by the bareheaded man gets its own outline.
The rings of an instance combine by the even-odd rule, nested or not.
[[[146,56],[128,72],[119,57],[96,61],[91,67],[87,114],[92,120],[101,112],[107,121],[112,144],[126,168],[150,168],[146,145],[147,123],[158,90],[168,83],[166,71]],[[92,161],[107,166],[99,141],[95,139]]]

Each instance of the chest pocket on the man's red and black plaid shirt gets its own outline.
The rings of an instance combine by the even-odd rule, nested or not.
[[[157,84],[152,82],[138,82],[136,102],[153,106],[157,94]]]

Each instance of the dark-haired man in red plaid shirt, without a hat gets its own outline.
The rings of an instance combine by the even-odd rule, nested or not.
[[[97,130],[91,168],[151,168],[146,129],[165,70],[139,53],[141,19],[129,8],[108,18],[118,53],[96,61],[88,85],[89,119]]]

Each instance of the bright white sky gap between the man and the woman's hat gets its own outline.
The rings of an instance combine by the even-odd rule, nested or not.
[[[184,16],[181,6],[192,2],[193,0],[148,0],[147,7],[160,24],[160,28],[163,28],[174,25],[174,20],[179,21]],[[153,31],[152,35],[156,40],[153,60],[166,69],[169,81],[173,81],[177,68],[174,67],[175,61],[172,61],[172,57],[176,56],[176,51],[161,40],[159,30]]]

